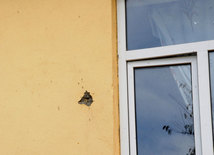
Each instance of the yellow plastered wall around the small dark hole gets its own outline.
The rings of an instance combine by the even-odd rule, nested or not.
[[[114,0],[0,0],[0,155],[119,154],[115,16]]]

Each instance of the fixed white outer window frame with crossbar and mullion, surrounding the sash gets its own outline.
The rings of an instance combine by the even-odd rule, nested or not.
[[[148,59],[179,57],[183,55],[195,54],[197,85],[198,88],[198,118],[200,138],[197,140],[196,147],[200,147],[201,152],[197,155],[213,155],[213,135],[212,135],[212,115],[211,115],[211,97],[209,80],[209,51],[214,50],[214,40],[170,45],[163,47],[129,50],[126,49],[126,18],[125,18],[125,0],[117,0],[117,18],[118,18],[118,58],[119,58],[119,104],[120,104],[120,144],[121,155],[135,155],[132,147],[135,147],[133,138],[134,133],[130,130],[132,121],[129,113],[129,100],[131,89],[134,85],[128,81],[131,76],[128,73],[129,65],[132,62],[147,61]],[[173,59],[173,58],[168,58]],[[158,65],[158,64],[156,64]],[[195,88],[195,89],[197,89]],[[193,88],[194,89],[194,88]],[[195,109],[194,109],[195,110]],[[197,111],[197,110],[196,110]],[[194,111],[195,112],[195,111]],[[199,119],[200,118],[200,119]]]

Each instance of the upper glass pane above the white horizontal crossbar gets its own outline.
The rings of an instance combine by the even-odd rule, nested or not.
[[[214,39],[214,0],[126,0],[127,49]]]

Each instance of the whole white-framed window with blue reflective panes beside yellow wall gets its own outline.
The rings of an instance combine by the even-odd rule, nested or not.
[[[213,155],[214,1],[117,1],[121,155]]]

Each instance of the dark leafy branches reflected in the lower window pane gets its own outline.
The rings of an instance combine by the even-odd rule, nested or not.
[[[179,87],[182,87],[183,89],[187,89],[185,85],[180,84]],[[191,96],[191,90],[188,91]],[[187,95],[187,94],[186,94]],[[173,133],[183,134],[183,135],[189,135],[194,139],[194,124],[193,124],[193,106],[192,104],[184,105],[170,95],[170,97],[175,101],[175,103],[179,106],[179,112],[182,118],[181,122],[174,122],[172,125],[163,125],[162,129],[167,132],[168,135],[171,135]],[[195,155],[195,147],[189,148],[188,153],[186,155]]]

